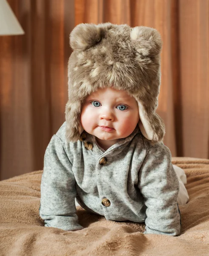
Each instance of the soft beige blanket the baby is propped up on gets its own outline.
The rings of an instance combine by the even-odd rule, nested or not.
[[[209,255],[209,160],[173,157],[190,201],[180,206],[181,235],[144,235],[144,224],[106,221],[77,208],[78,231],[44,227],[39,217],[42,171],[0,181],[0,255]]]

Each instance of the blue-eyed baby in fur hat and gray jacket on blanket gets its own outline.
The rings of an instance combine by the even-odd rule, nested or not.
[[[180,233],[184,171],[171,163],[155,113],[161,37],[148,27],[79,24],[70,35],[66,122],[46,149],[40,216],[80,230],[75,198],[110,221],[145,222],[145,234]],[[175,169],[174,169],[175,167]]]

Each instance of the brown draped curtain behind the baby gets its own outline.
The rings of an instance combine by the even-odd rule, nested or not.
[[[43,168],[65,121],[69,34],[79,23],[161,33],[157,113],[178,157],[209,158],[209,0],[8,0],[25,35],[0,36],[1,179]]]

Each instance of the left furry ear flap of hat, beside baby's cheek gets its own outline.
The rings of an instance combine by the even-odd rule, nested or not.
[[[66,119],[66,130],[65,137],[68,142],[76,142],[80,134],[82,134],[83,128],[80,122],[81,115],[81,102],[68,103],[65,107],[65,119]]]

